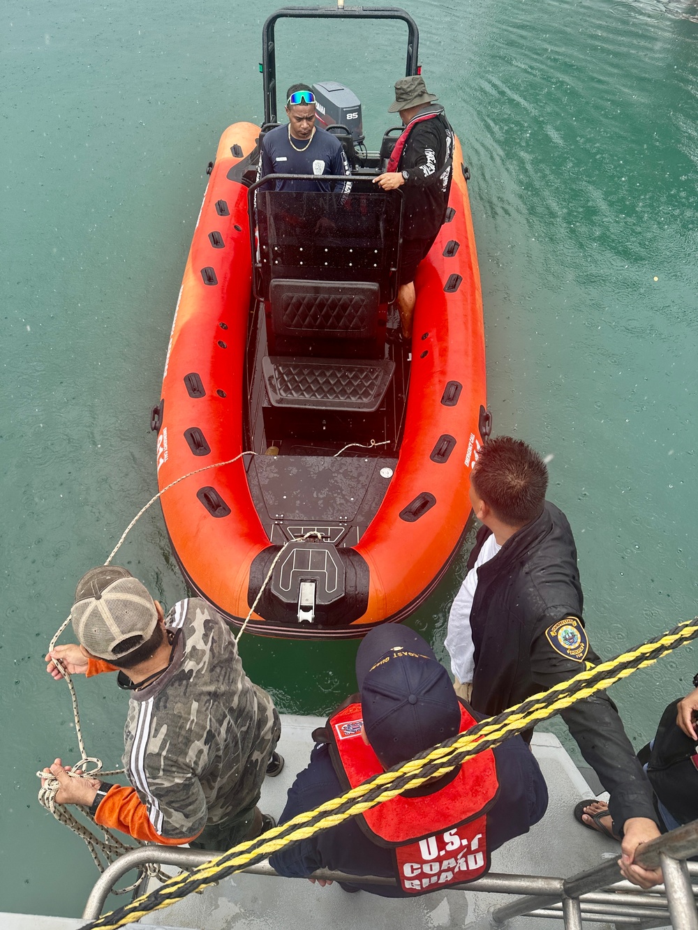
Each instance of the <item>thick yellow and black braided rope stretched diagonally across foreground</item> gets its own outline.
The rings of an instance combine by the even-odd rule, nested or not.
[[[279,849],[308,839],[320,830],[329,830],[349,817],[389,801],[404,790],[419,787],[429,778],[445,775],[454,765],[463,763],[477,752],[499,746],[505,739],[564,711],[577,701],[584,700],[584,697],[605,690],[638,669],[648,668],[679,645],[690,643],[698,636],[697,624],[698,618],[679,624],[674,630],[649,643],[638,645],[611,661],[581,671],[569,681],[555,684],[516,707],[481,721],[466,733],[452,737],[435,749],[424,751],[399,767],[369,778],[341,797],[332,798],[315,810],[293,817],[256,840],[236,845],[191,873],[175,876],[152,894],[139,897],[127,906],[85,924],[82,930],[115,930],[126,923],[138,921],[146,914],[167,908],[200,888],[262,862]]]

